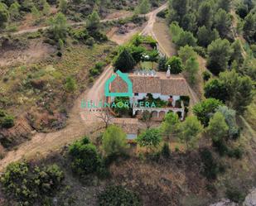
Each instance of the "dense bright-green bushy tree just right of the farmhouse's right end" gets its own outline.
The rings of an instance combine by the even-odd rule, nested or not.
[[[215,98],[207,98],[204,101],[197,103],[193,108],[193,112],[200,120],[200,122],[205,127],[207,127],[210,121],[210,114],[215,113],[215,109],[218,108],[220,105],[223,105],[220,100]]]

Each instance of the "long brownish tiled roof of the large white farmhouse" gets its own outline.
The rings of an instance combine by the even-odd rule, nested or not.
[[[162,95],[184,95],[189,96],[189,89],[181,75],[171,74],[167,78],[163,72],[157,72],[155,76],[128,74],[133,82],[133,93],[161,93]],[[127,84],[119,77],[111,84],[111,92],[127,92]]]

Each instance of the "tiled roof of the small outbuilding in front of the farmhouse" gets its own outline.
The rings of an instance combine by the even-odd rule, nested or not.
[[[112,122],[121,127],[126,134],[138,134],[137,118],[114,118]]]

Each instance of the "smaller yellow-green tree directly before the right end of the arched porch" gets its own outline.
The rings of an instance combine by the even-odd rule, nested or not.
[[[175,134],[179,122],[179,117],[176,113],[167,113],[160,127],[163,137],[170,138],[171,135]]]

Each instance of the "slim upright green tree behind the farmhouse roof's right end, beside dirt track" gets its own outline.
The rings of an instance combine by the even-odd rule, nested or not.
[[[191,57],[190,59],[186,60],[185,70],[188,74],[190,84],[195,84],[196,75],[198,74],[199,70],[199,63],[196,57]]]

